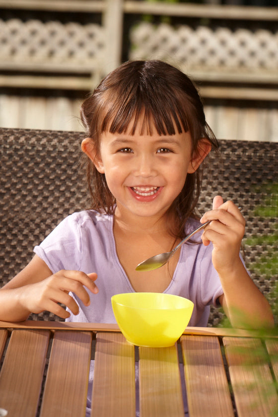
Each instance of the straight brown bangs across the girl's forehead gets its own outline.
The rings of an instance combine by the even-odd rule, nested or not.
[[[118,90],[118,91],[117,91]],[[161,85],[134,84],[130,90],[121,91],[118,85],[116,91],[108,90],[109,103],[103,111],[104,117],[100,124],[100,133],[109,131],[112,134],[134,135],[139,127],[139,134],[153,135],[155,129],[158,135],[175,135],[188,132],[188,115],[177,103],[177,92],[169,89],[165,92]],[[111,100],[114,97],[122,97],[122,100]],[[184,97],[183,97],[184,100]]]

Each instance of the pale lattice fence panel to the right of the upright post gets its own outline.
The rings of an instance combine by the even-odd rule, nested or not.
[[[131,40],[131,59],[166,60],[189,71],[269,73],[278,81],[278,32],[142,23]]]

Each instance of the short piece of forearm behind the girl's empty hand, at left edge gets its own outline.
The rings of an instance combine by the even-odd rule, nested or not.
[[[24,287],[0,289],[0,320],[19,322],[28,318],[31,312],[22,303],[25,290]]]

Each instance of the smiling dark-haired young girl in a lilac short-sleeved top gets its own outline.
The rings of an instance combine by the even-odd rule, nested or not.
[[[222,305],[233,326],[273,326],[239,254],[244,218],[220,196],[200,220],[212,221],[199,244],[182,245],[158,270],[135,270],[200,225],[202,163],[217,141],[191,80],[159,61],[125,63],[85,100],[81,119],[92,210],[73,213],[35,247],[0,290],[0,320],[48,310],[113,323],[112,295],[154,291],[191,299],[190,326],[207,326],[210,304]]]

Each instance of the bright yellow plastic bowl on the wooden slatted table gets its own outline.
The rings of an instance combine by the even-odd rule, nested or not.
[[[152,348],[174,345],[187,327],[194,307],[187,298],[156,292],[117,294],[111,302],[127,341]]]

